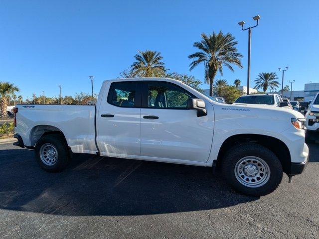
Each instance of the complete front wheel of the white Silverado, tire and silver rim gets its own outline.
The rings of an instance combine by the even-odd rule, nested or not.
[[[229,149],[222,172],[233,189],[250,196],[273,192],[283,178],[283,168],[277,156],[256,143],[239,144]]]

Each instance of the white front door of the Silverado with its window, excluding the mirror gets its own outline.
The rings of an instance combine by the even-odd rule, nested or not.
[[[194,97],[182,87],[163,81],[144,81],[141,109],[141,156],[149,160],[191,164],[206,162],[213,138],[213,109],[197,117],[186,108]]]

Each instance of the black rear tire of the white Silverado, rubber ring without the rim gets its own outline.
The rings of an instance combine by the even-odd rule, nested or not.
[[[57,150],[57,158],[52,165],[47,165],[41,159],[41,147],[44,144],[51,144]],[[35,145],[35,158],[37,163],[42,169],[48,172],[59,172],[66,168],[69,162],[68,147],[66,145],[65,139],[59,134],[47,134],[42,136]],[[44,160],[45,161],[45,160]]]

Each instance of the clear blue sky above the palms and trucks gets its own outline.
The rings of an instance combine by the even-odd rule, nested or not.
[[[251,79],[260,72],[289,66],[285,83],[294,90],[319,82],[319,1],[267,0],[2,0],[0,7],[0,81],[20,88],[24,99],[94,91],[118,77],[138,50],[157,50],[166,68],[203,81],[203,67],[189,72],[187,56],[200,34],[230,32],[244,55],[243,69],[225,68],[223,79],[246,85],[248,32],[246,25],[261,16],[252,30]],[[220,78],[218,75],[217,78]],[[251,83],[252,85],[253,83]],[[285,84],[284,84],[285,85]],[[202,88],[207,89],[207,85]]]

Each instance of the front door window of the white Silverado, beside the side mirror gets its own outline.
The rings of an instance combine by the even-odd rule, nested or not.
[[[194,96],[168,82],[147,82],[147,106],[149,108],[186,109],[188,98]]]

